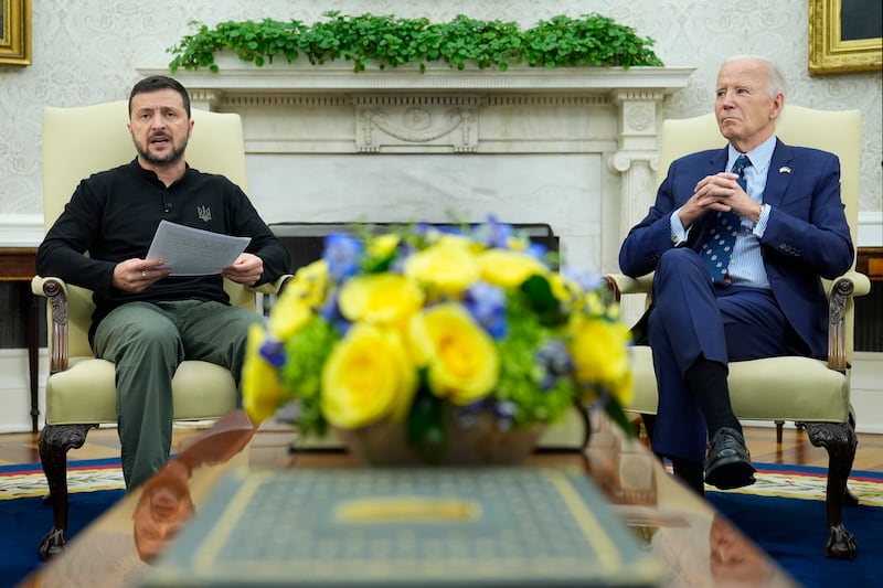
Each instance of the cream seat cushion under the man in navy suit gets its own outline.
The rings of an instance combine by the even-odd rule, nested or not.
[[[636,345],[632,353],[635,399],[628,409],[655,415],[652,353],[646,345]],[[727,384],[740,419],[845,423],[849,415],[849,379],[820,360],[788,356],[731,362]]]

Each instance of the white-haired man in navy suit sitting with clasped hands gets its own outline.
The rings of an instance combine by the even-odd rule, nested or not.
[[[820,278],[843,274],[854,253],[839,159],[776,137],[780,70],[762,57],[731,58],[715,95],[728,145],[674,161],[619,253],[625,274],[656,272],[639,323],[659,388],[653,451],[700,493],[703,481],[721,489],[754,483],[727,362],[825,357]]]

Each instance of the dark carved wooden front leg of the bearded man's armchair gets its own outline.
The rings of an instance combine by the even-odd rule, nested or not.
[[[40,539],[40,558],[64,550],[67,541],[67,451],[83,447],[89,429],[97,425],[46,425],[36,440],[40,462],[49,483],[52,530]]]

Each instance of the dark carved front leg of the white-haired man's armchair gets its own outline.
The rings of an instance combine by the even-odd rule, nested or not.
[[[805,423],[810,442],[828,451],[828,543],[825,555],[834,559],[855,559],[855,537],[843,525],[847,480],[859,443],[855,431],[847,423]]]

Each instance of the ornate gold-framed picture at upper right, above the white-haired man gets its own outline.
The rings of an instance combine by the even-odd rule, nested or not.
[[[809,0],[809,73],[883,71],[883,38],[868,32],[879,19],[879,1]]]

